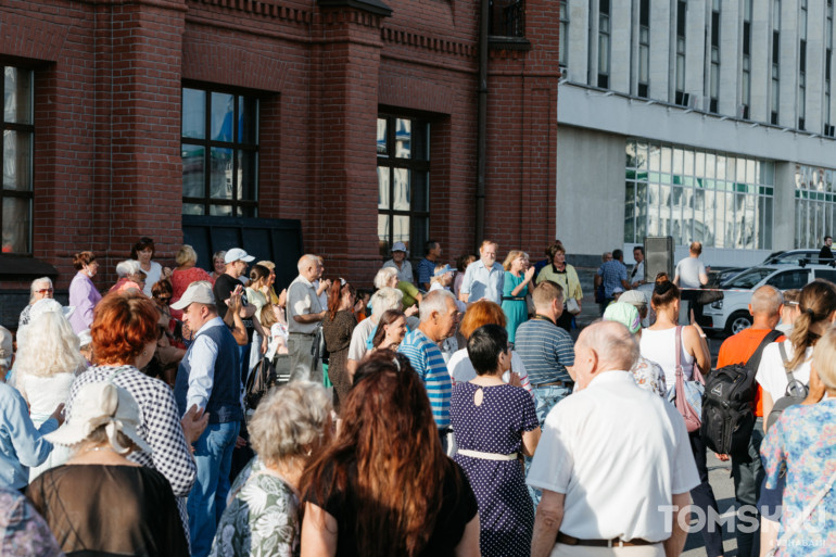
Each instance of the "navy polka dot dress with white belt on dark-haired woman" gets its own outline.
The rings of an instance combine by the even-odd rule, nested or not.
[[[474,396],[482,390],[482,403]],[[522,450],[522,433],[539,426],[531,395],[508,384],[460,383],[453,390],[451,419],[459,450],[508,455]],[[487,460],[456,454],[479,503],[483,557],[528,557],[534,506],[520,460]]]

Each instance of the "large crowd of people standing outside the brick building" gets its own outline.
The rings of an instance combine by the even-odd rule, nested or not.
[[[532,265],[485,240],[455,268],[430,241],[415,274],[396,242],[370,292],[313,254],[278,293],[240,248],[211,271],[154,254],[140,239],[102,295],[80,252],[67,306],[37,279],[16,347],[0,328],[0,555],[675,556],[692,508],[720,515],[684,410],[714,372],[680,324],[698,245],[649,296],[644,252],[630,273],[615,250],[580,334],[559,241]],[[836,286],[762,287],[750,312],[717,366],[757,359],[758,418],[718,455],[758,526],[737,555],[832,555]],[[245,403],[283,354],[287,384]]]

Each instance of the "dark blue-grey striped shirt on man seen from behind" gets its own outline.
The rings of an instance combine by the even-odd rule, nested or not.
[[[514,350],[520,355],[532,385],[572,380],[566,370],[566,366],[574,365],[572,338],[550,320],[535,317],[521,324]]]

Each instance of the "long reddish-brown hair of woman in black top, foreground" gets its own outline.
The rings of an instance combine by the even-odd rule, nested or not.
[[[357,509],[358,555],[418,555],[435,527],[444,477],[455,470],[423,383],[405,357],[376,352],[357,369],[342,412],[352,418],[309,464],[301,492],[312,502],[339,493]]]

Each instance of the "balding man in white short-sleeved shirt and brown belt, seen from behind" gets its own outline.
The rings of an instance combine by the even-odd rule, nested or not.
[[[579,392],[548,415],[527,480],[543,490],[532,557],[682,552],[697,468],[676,409],[626,371],[637,357],[621,324],[581,332],[572,368]]]

